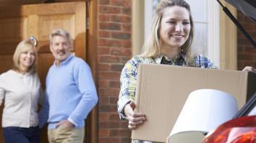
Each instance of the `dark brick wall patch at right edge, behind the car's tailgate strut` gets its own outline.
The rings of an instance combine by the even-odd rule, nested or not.
[[[240,11],[237,12],[237,19],[248,34],[256,42],[256,24],[251,19],[245,17]],[[237,69],[242,70],[245,66],[256,67],[256,50],[237,29]]]

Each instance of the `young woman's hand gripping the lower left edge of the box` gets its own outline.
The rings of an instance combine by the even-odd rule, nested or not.
[[[129,129],[136,129],[137,126],[140,126],[141,124],[144,123],[144,121],[146,121],[146,116],[145,114],[141,114],[141,113],[136,113],[134,111],[135,109],[135,103],[131,102],[128,103],[125,107],[124,107],[124,114],[127,116],[128,119],[128,128]]]

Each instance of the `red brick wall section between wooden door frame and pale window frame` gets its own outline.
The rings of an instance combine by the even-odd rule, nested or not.
[[[132,0],[98,0],[99,143],[128,143],[116,102],[121,69],[132,55]]]

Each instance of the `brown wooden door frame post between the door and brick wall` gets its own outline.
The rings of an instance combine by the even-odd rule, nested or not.
[[[90,65],[93,73],[93,79],[95,86],[98,90],[98,63],[97,63],[97,49],[98,49],[98,1],[97,0],[85,0],[87,5],[87,17],[88,17],[88,29],[87,38],[88,45],[86,53],[86,61]],[[90,112],[89,118],[87,119],[86,126],[87,142],[98,143],[98,104],[94,107],[93,111]]]

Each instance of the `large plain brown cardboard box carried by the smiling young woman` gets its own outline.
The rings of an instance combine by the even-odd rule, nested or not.
[[[256,75],[237,70],[141,64],[135,110],[146,114],[148,120],[132,131],[132,139],[166,142],[189,93],[202,88],[234,95],[241,108],[247,95],[256,91]]]

